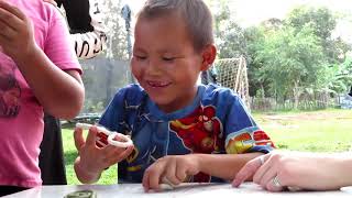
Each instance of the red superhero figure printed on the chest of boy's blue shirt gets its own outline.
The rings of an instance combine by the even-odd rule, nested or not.
[[[212,106],[200,106],[188,117],[172,121],[169,129],[190,153],[210,154],[223,148],[222,123],[216,117],[216,108]],[[199,173],[194,176],[193,182],[208,183],[210,176]]]

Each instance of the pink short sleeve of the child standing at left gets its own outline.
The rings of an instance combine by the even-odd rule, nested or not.
[[[55,9],[48,12],[50,25],[44,44],[44,53],[63,70],[82,73],[74,46],[69,41],[69,32],[64,18]]]

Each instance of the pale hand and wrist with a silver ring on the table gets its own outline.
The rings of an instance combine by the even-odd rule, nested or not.
[[[272,152],[246,163],[232,185],[239,187],[246,178],[270,191],[286,189],[339,189],[344,170],[337,166],[341,158],[318,154]],[[263,163],[262,163],[263,162]]]

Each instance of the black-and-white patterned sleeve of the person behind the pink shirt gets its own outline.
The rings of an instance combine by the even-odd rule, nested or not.
[[[70,31],[70,40],[78,58],[97,56],[106,48],[101,0],[61,0]]]

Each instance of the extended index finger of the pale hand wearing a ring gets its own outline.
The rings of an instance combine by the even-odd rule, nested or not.
[[[262,156],[253,158],[240,169],[232,182],[233,187],[239,187],[245,179],[255,174],[255,172],[262,166],[261,157]]]

